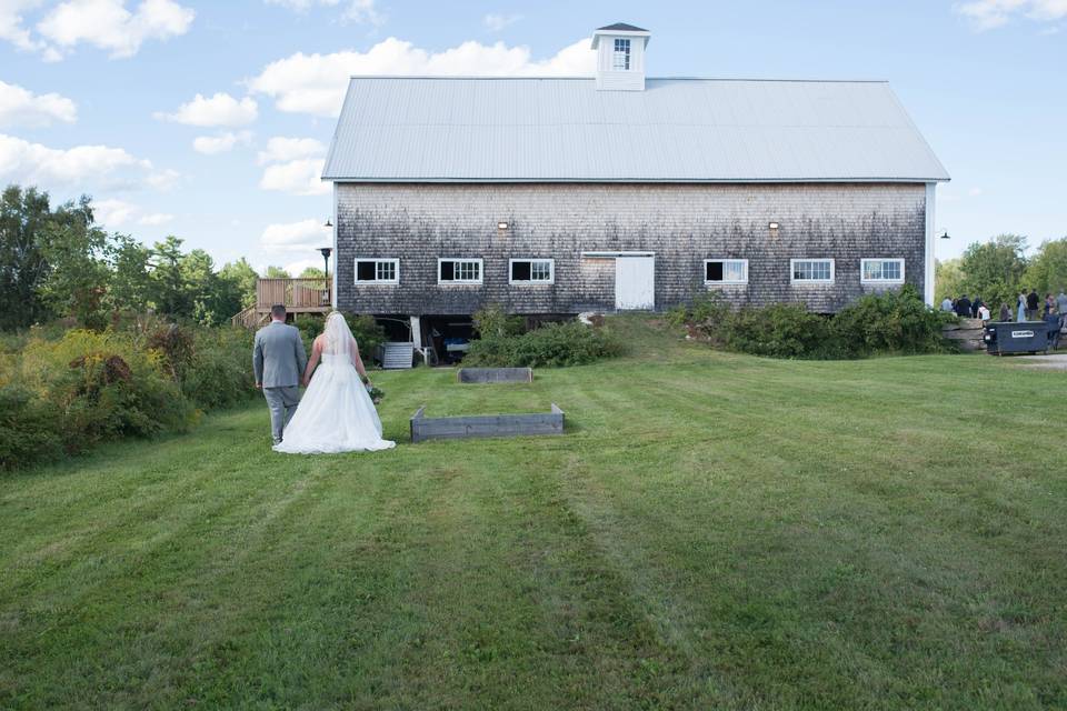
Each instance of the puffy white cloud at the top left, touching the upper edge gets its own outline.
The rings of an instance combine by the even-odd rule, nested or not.
[[[196,12],[173,0],[143,0],[133,12],[126,0],[67,0],[37,30],[49,42],[46,59],[59,59],[81,42],[108,50],[113,59],[137,54],[147,40],[167,40],[189,31]]]

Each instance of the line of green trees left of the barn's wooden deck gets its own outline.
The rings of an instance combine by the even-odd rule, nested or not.
[[[147,310],[215,326],[255,302],[258,274],[246,259],[217,269],[182,243],[170,236],[146,247],[107,232],[89,197],[53,208],[47,192],[9,186],[0,197],[0,330],[56,318],[99,329],[113,314]],[[277,267],[267,276],[289,277]]]

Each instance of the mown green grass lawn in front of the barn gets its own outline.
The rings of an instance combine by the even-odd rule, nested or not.
[[[0,478],[0,708],[1067,708],[1067,374],[675,342]],[[427,414],[561,438],[412,445]]]

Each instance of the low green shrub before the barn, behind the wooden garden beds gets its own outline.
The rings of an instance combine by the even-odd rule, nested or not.
[[[477,339],[463,362],[490,368],[552,368],[591,363],[621,352],[621,343],[606,329],[566,321],[548,323],[522,336]]]

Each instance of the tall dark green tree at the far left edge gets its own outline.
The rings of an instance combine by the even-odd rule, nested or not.
[[[0,197],[0,329],[50,314],[39,290],[51,271],[42,234],[51,220],[47,192],[9,186]]]

